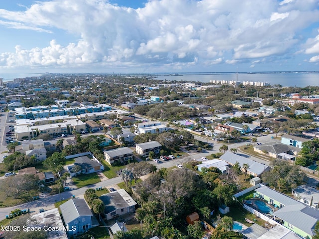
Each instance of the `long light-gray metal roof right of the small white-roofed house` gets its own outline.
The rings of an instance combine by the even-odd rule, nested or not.
[[[249,165],[249,169],[247,170],[247,173],[255,177],[259,176],[263,172],[270,170],[270,168],[265,164],[258,163],[251,159],[242,157],[238,154],[231,153],[229,151],[224,153],[219,159],[224,160],[226,163],[228,163],[231,166],[233,166],[236,162],[238,162],[242,170],[244,170],[243,164],[247,163]]]

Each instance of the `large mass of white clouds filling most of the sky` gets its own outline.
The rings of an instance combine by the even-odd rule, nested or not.
[[[143,8],[132,9],[103,0],[52,0],[36,2],[24,11],[0,9],[4,27],[52,33],[47,47],[27,48],[21,41],[15,52],[0,54],[0,66],[186,69],[239,62],[254,66],[259,58],[273,60],[301,47],[299,31],[319,21],[315,4],[314,0],[150,0]],[[61,30],[79,40],[59,44],[54,34]],[[318,36],[305,46],[304,53],[317,54]]]

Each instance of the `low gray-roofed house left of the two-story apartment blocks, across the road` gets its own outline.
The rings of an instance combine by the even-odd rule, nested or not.
[[[75,166],[80,166],[80,168],[76,168]],[[79,174],[89,174],[103,171],[104,166],[96,158],[90,159],[88,156],[81,156],[75,158],[74,164],[67,166],[67,169],[71,177],[74,177]]]

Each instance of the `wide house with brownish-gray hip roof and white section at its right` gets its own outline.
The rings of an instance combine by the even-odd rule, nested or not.
[[[301,151],[301,148],[282,143],[271,142],[254,146],[254,151],[260,154],[267,154],[273,158],[294,160],[297,153]]]

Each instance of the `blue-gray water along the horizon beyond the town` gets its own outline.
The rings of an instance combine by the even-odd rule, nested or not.
[[[0,78],[3,81],[11,81],[14,78],[24,78],[26,76],[39,76],[42,73],[1,73]],[[120,74],[121,75],[121,74]],[[130,73],[123,74],[130,75]],[[131,74],[133,75],[133,74]],[[134,74],[140,75],[140,74]],[[253,82],[268,82],[271,85],[280,84],[282,86],[319,86],[319,72],[220,72],[220,73],[149,73],[148,75],[156,76],[159,80],[176,80],[176,81],[200,81],[210,82],[211,80],[225,81],[253,81]]]

